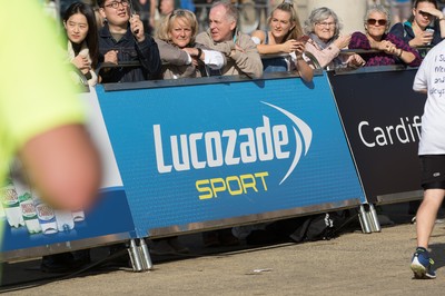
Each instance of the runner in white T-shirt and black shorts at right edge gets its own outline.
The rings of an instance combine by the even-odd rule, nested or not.
[[[424,199],[417,211],[417,249],[411,268],[416,278],[435,278],[434,262],[427,251],[437,210],[445,196],[445,41],[423,60],[413,89],[427,93],[422,116],[418,155],[422,165]]]

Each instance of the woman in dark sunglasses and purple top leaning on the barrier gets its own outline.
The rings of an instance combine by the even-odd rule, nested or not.
[[[421,65],[422,58],[417,50],[409,47],[400,38],[386,33],[389,12],[383,6],[374,6],[366,12],[365,31],[354,32],[350,38],[349,49],[374,50],[360,53],[365,66],[387,66],[405,63],[412,67]]]

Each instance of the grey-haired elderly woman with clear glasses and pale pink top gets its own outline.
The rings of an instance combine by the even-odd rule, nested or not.
[[[332,9],[326,7],[314,9],[304,29],[310,38],[305,51],[312,53],[322,68],[357,68],[365,65],[365,60],[356,53],[340,53],[343,48],[347,48],[350,34],[339,34],[342,23]]]

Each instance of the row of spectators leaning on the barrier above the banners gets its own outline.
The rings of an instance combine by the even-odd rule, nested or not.
[[[212,2],[208,29],[199,32],[190,1],[160,0],[158,21],[156,0],[78,1],[62,13],[63,50],[73,79],[89,87],[209,76],[260,78],[277,71],[310,82],[317,68],[417,67],[425,50],[445,37],[445,14],[435,0],[395,1],[390,11],[403,11],[395,18],[379,1],[368,2],[363,31],[342,34],[334,10],[316,8],[300,22],[291,0],[271,10],[267,30],[251,33],[240,30],[233,2]],[[205,239],[208,246],[236,243],[228,236],[210,233]],[[176,238],[157,243],[159,253],[187,251]]]

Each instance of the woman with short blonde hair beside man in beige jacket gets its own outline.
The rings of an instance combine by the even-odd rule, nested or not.
[[[194,12],[177,9],[166,16],[156,33],[164,79],[201,77],[208,70],[218,70],[225,63],[222,53],[208,50],[195,42],[198,21]]]

